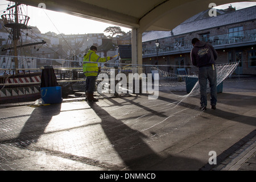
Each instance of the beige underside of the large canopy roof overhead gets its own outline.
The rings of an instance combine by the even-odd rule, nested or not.
[[[142,33],[150,30],[170,31],[189,17],[210,9],[209,4],[212,0],[18,0],[18,2],[35,7],[44,3],[48,10],[117,26],[138,28]],[[232,2],[241,1],[214,0],[217,6]]]

